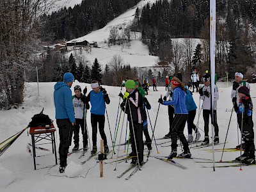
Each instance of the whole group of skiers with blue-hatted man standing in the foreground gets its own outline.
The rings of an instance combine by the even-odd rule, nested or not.
[[[178,73],[180,74],[180,72]],[[177,74],[177,76],[178,76]],[[195,75],[195,73],[194,73]],[[166,95],[158,100],[159,104],[168,106],[168,116],[170,130],[164,138],[171,138],[172,152],[168,159],[173,159],[177,156],[177,139],[181,141],[184,152],[179,154],[179,157],[191,157],[189,151],[189,142],[193,141],[192,130],[195,131],[195,141],[200,139],[200,132],[198,127],[194,124],[196,115],[196,104],[193,100],[192,92],[188,87],[182,83],[181,74],[179,77],[168,77],[168,86]],[[166,77],[166,79],[167,79]],[[197,78],[197,77],[196,77]],[[70,87],[74,81],[74,76],[67,72],[63,76],[63,82],[58,82],[54,85],[54,104],[56,108],[56,122],[60,134],[60,173],[65,172],[67,166],[68,148],[71,145],[72,132],[74,132],[74,148],[79,149],[79,129],[83,133],[83,150],[88,150],[88,130],[86,129],[86,110],[90,109],[91,104],[91,124],[92,124],[92,154],[97,152],[97,127],[99,125],[99,132],[102,140],[104,140],[104,152],[108,153],[108,142],[104,132],[105,124],[105,109],[106,104],[110,103],[108,93],[100,86],[99,81],[93,80],[91,82],[92,91],[86,97],[87,88],[84,88],[83,93],[80,86],[74,86],[75,95],[72,96]],[[214,144],[219,143],[219,127],[217,123],[217,100],[219,99],[218,87],[216,84],[212,85],[210,76],[205,73],[202,77],[204,86],[196,88],[202,100],[202,109],[204,117],[204,141],[207,145],[209,143],[209,116],[213,118],[214,122],[214,137],[212,138]],[[143,84],[145,84],[143,82]],[[156,84],[153,83],[153,84]],[[126,79],[123,84],[126,92],[124,95],[120,92],[123,102],[120,104],[121,109],[127,114],[130,130],[130,142],[132,152],[129,156],[132,157],[132,164],[143,164],[143,132],[146,138],[146,145],[148,150],[152,149],[151,139],[147,129],[147,110],[151,108],[147,98],[145,88],[140,84],[138,79]],[[214,103],[213,116],[211,113],[211,86],[214,86]],[[153,87],[154,90],[156,87]],[[156,90],[157,91],[157,90]],[[168,99],[167,99],[168,98]],[[235,82],[232,88],[232,102],[234,110],[237,113],[237,124],[241,130],[244,144],[244,154],[237,157],[238,161],[241,159],[243,163],[255,163],[255,146],[254,133],[252,121],[252,99],[250,97],[250,84],[243,81],[243,74],[236,72]],[[173,116],[174,115],[174,116]],[[188,122],[188,140],[184,136],[184,127]]]

